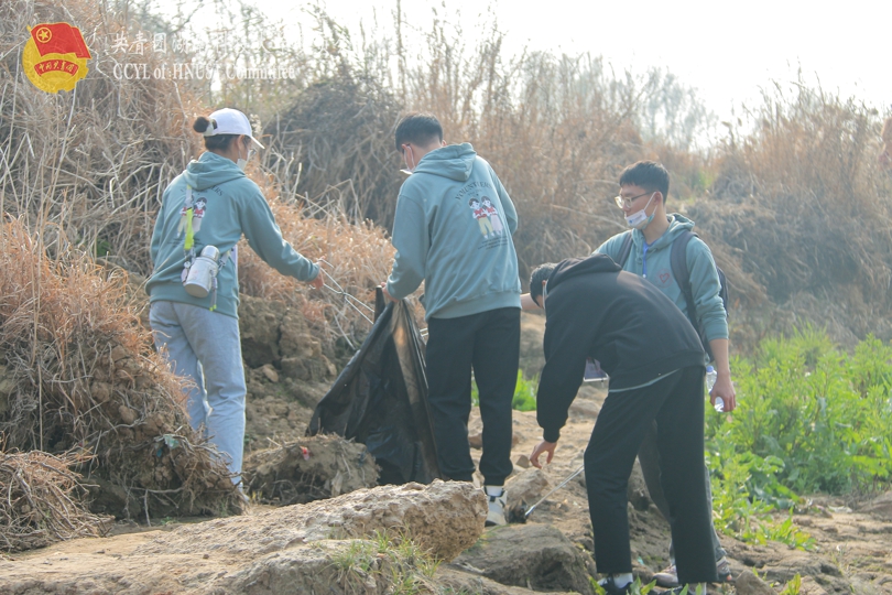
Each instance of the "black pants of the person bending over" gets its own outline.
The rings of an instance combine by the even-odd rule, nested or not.
[[[649,387],[608,393],[585,455],[598,572],[632,571],[626,490],[644,434],[656,419],[678,581],[717,581],[703,473],[703,367],[694,366]]]

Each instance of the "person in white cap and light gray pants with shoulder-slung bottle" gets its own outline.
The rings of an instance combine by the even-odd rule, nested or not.
[[[252,147],[263,148],[244,113],[220,109],[193,128],[207,151],[164,191],[145,285],[149,322],[172,369],[194,381],[187,394],[192,426],[206,432],[238,484],[246,386],[237,244],[243,235],[266,263],[315,289],[323,279],[318,264],[282,238],[260,187],[244,175]]]

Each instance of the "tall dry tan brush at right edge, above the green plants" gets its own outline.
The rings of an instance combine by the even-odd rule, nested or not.
[[[698,229],[749,279],[746,298],[812,303],[801,318],[889,336],[892,202],[875,163],[879,118],[804,83],[766,94],[752,117],[757,129],[732,130],[710,196],[689,209]],[[743,277],[735,277],[739,295]],[[817,301],[798,300],[805,294]],[[846,320],[824,320],[818,302],[845,304]],[[758,325],[791,331],[776,322]]]

